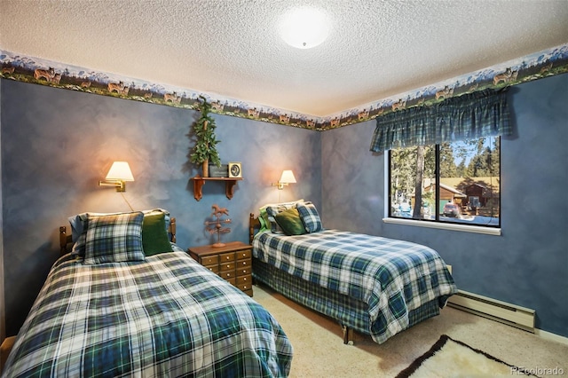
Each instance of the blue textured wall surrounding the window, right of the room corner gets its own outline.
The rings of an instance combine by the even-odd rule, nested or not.
[[[517,135],[501,141],[501,236],[383,224],[374,121],[323,133],[323,223],[435,248],[461,289],[533,308],[536,327],[568,336],[568,75],[510,96]]]

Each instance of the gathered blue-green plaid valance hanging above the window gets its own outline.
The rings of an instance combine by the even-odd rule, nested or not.
[[[510,135],[509,87],[448,98],[376,119],[370,150],[437,145],[443,142]]]

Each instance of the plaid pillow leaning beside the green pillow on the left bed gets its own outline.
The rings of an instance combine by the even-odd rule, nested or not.
[[[142,212],[103,217],[88,216],[83,264],[144,261],[143,221]]]

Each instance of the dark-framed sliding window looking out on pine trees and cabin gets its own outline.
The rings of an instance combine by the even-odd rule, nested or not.
[[[389,217],[501,227],[501,138],[389,152]]]

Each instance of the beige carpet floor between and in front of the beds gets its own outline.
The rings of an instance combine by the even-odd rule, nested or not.
[[[354,345],[344,345],[341,327],[334,320],[268,287],[256,286],[254,299],[278,319],[294,347],[291,377],[395,377],[430,350],[441,335],[484,350],[510,365],[526,369],[556,367],[564,370],[564,376],[568,374],[568,345],[453,308],[442,310],[439,316],[381,345],[358,334]]]

